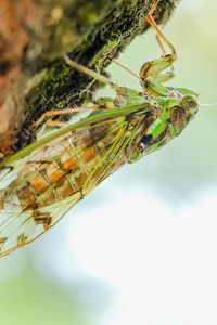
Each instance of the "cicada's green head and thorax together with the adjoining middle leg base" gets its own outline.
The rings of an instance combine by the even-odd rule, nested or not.
[[[154,86],[155,92],[152,93],[137,92],[124,87],[116,90],[116,102],[119,101],[120,106],[122,100],[124,105],[140,103],[141,106],[146,106],[146,110],[139,118],[138,113],[130,115],[130,123],[135,128],[133,141],[127,154],[130,162],[158,150],[179,135],[197,112],[197,95],[192,90],[166,88],[156,83]]]

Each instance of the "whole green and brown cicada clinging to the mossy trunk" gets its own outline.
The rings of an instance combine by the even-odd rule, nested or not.
[[[0,164],[0,256],[36,239],[122,165],[180,134],[196,114],[195,92],[162,84],[171,77],[163,72],[176,60],[176,51],[152,18],[155,6],[146,20],[171,53],[143,64],[141,91],[119,87],[64,56],[72,67],[108,83],[116,95],[94,101],[85,108],[87,117]],[[60,113],[48,112],[40,122],[54,114]]]

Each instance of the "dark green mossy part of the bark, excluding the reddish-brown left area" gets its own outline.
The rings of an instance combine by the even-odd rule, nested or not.
[[[49,109],[80,104],[93,80],[65,65],[62,54],[104,73],[127,44],[149,27],[153,0],[48,1],[42,27],[33,38],[25,57],[23,93],[17,94],[25,118],[17,128],[15,150],[35,139],[33,121]],[[178,0],[161,0],[155,20],[165,23]]]

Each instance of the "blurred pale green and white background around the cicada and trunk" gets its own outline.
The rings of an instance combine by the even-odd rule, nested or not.
[[[164,29],[179,55],[169,84],[196,90],[201,103],[217,102],[216,13],[215,0],[182,0]],[[150,30],[118,61],[139,72],[159,55]],[[118,66],[107,70],[140,89]],[[1,324],[216,325],[216,125],[217,105],[201,106],[178,139],[1,259]]]

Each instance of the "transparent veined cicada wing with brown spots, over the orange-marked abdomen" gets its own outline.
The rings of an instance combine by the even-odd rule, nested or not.
[[[136,133],[130,135],[127,129],[126,117],[108,116],[4,166],[0,171],[0,256],[43,234],[124,164],[125,148]]]

